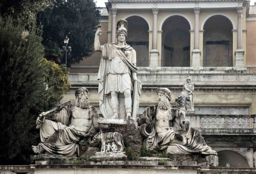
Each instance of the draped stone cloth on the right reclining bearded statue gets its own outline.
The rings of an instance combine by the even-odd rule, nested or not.
[[[145,118],[151,118],[155,122],[158,106],[147,107],[140,118],[138,118],[139,125],[142,125]],[[175,109],[172,109],[172,116],[176,113]],[[143,147],[151,150],[165,150],[170,145],[175,145],[181,152],[186,153],[200,153],[200,154],[212,154],[217,155],[215,151],[211,151],[211,147],[208,146],[199,130],[191,128],[189,125],[186,130],[172,129],[157,134],[155,128],[151,128],[151,133],[148,137],[144,138]],[[210,150],[210,151],[208,151]],[[207,152],[208,151],[208,152]]]

